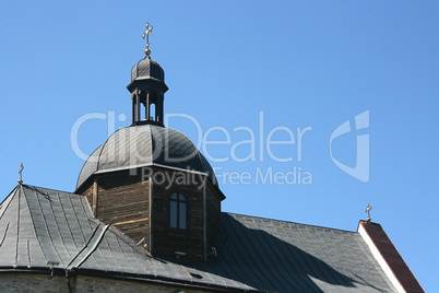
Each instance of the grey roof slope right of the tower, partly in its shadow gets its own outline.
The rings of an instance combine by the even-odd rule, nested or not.
[[[270,292],[395,292],[358,233],[223,213],[216,270]]]

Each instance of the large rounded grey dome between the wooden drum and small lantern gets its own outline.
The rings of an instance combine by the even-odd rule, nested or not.
[[[217,186],[211,165],[187,136],[147,124],[121,128],[112,133],[85,162],[76,189],[94,174],[144,166],[200,172]]]

